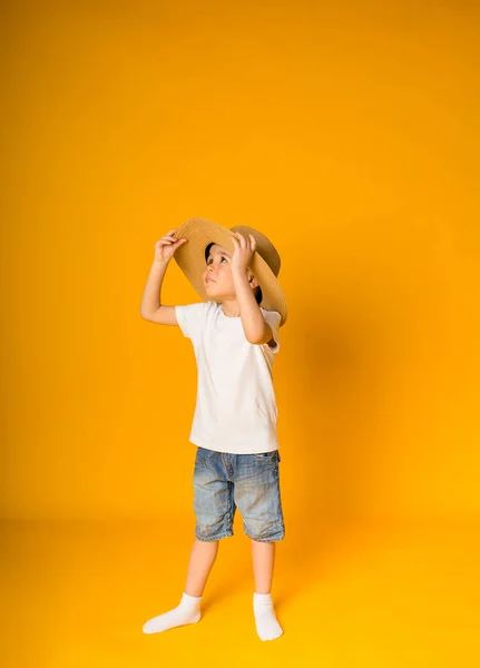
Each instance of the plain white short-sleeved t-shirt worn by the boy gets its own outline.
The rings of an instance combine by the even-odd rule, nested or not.
[[[197,361],[197,401],[189,441],[207,450],[252,454],[278,450],[272,365],[280,351],[276,311],[261,307],[276,345],[248,343],[241,316],[214,301],[176,306]]]

